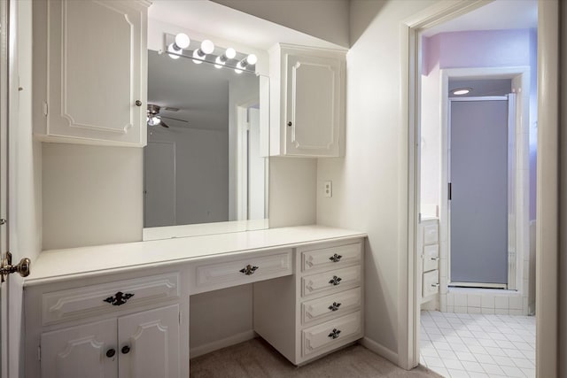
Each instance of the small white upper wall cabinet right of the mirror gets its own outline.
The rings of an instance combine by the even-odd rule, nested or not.
[[[346,52],[278,44],[269,53],[270,154],[344,156]]]

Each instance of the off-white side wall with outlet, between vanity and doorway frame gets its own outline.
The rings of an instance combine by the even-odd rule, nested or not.
[[[400,259],[408,254],[408,125],[400,104],[400,22],[432,1],[353,0],[352,47],[346,57],[346,157],[320,158],[317,222],[368,233],[365,335],[397,360]]]

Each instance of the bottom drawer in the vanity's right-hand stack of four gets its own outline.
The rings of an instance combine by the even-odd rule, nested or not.
[[[301,331],[302,355],[333,350],[362,336],[361,312],[326,321]]]

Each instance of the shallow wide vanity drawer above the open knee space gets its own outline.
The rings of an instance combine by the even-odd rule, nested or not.
[[[291,261],[291,250],[285,250],[197,266],[191,294],[292,274]]]

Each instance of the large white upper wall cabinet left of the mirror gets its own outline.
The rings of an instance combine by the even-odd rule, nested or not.
[[[149,4],[34,1],[35,135],[46,142],[146,144]]]

